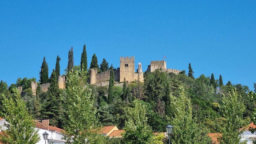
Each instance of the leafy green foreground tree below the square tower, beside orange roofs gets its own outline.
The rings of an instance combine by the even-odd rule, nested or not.
[[[138,100],[132,102],[133,107],[126,110],[127,121],[125,122],[123,139],[125,144],[148,144],[151,143],[153,133],[147,124],[146,107]]]

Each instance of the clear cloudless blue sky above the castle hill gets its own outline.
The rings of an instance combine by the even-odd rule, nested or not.
[[[86,44],[88,63],[96,53],[119,67],[120,56],[135,56],[146,70],[166,56],[167,67],[224,83],[256,83],[256,1],[4,1],[0,2],[0,80],[39,79],[44,56],[49,75],[75,65]]]

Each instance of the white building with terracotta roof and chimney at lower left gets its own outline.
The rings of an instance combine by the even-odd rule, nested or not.
[[[6,130],[5,124],[9,124],[5,121],[4,118],[0,117],[0,132]],[[43,138],[43,133],[47,132],[49,134],[48,140],[46,140],[47,144],[65,144],[65,140],[62,140],[63,134],[61,131],[64,131],[60,128],[50,126],[49,119],[43,119],[41,122],[36,120],[36,129],[38,129],[38,134],[40,136],[40,140],[36,144],[45,144],[45,140]]]

